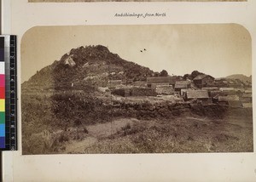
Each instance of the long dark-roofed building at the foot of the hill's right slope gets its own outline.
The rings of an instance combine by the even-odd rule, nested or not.
[[[176,77],[147,77],[148,88],[156,88],[158,85],[175,85]]]

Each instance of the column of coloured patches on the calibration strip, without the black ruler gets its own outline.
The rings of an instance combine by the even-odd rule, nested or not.
[[[5,63],[4,37],[0,37],[0,149],[5,148]]]

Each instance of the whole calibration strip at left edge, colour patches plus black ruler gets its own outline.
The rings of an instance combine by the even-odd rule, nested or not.
[[[0,151],[16,151],[16,36],[0,36],[0,41]]]

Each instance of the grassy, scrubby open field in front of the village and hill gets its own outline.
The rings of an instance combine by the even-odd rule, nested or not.
[[[119,105],[110,107],[102,105],[108,95],[90,100],[75,90],[38,93],[22,92],[23,154],[253,151],[252,108],[150,97],[126,105],[112,98]]]

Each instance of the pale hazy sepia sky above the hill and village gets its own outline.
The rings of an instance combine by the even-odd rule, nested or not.
[[[213,77],[252,74],[251,37],[236,24],[38,26],[22,37],[21,81],[72,48],[98,44],[124,60],[170,75],[195,70]]]

